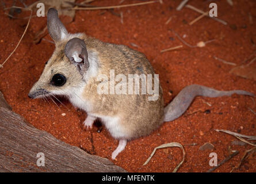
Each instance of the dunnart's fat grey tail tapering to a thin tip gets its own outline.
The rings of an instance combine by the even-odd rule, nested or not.
[[[179,94],[165,107],[165,118],[164,121],[173,121],[181,116],[196,96],[203,97],[222,97],[231,96],[232,94],[242,94],[253,96],[253,93],[243,90],[232,90],[232,91],[219,91],[210,87],[200,85],[190,85],[185,87],[179,92]]]

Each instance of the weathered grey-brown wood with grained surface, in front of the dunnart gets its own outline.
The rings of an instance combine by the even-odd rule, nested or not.
[[[1,92],[0,117],[1,172],[125,172],[108,159],[36,129],[12,112]],[[37,166],[38,153],[44,154],[45,166]]]

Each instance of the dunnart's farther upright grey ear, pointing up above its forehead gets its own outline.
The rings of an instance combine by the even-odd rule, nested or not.
[[[58,17],[58,11],[54,8],[48,10],[47,28],[50,36],[55,42],[58,42],[67,36],[68,32]]]

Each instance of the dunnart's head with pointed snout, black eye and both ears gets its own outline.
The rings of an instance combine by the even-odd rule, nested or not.
[[[89,69],[84,34],[70,34],[59,20],[58,12],[49,9],[47,16],[48,32],[55,41],[55,51],[39,81],[29,91],[30,98],[48,95],[70,95],[75,87],[84,83],[83,76]]]

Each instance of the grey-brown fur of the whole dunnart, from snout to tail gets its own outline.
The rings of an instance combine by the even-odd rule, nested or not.
[[[100,74],[104,74],[109,78],[110,70],[114,70],[115,75],[124,74],[127,79],[129,74],[152,74],[152,84],[154,84],[154,69],[143,53],[134,51],[125,45],[104,43],[93,37],[86,36],[84,33],[66,33],[66,28],[61,24],[56,10],[50,9],[49,12],[48,26],[50,28],[48,27],[48,30],[55,40],[56,49],[45,65],[39,81],[30,90],[29,96],[37,98],[43,97],[45,94],[66,95],[73,105],[86,110],[88,117],[84,122],[85,125],[91,126],[92,123],[88,122],[93,121],[95,117],[102,118],[102,122],[108,128],[110,134],[115,139],[120,140],[119,147],[112,154],[113,159],[124,149],[127,140],[146,136],[157,129],[163,121],[171,121],[181,116],[197,95],[209,97],[220,97],[233,93],[253,95],[246,91],[226,92],[192,85],[183,89],[174,98],[173,102],[164,109],[160,85],[159,97],[156,101],[149,101],[148,97],[151,95],[141,94],[141,89],[140,94],[98,94],[97,86],[101,81],[97,81],[97,76]],[[62,36],[60,36],[60,32],[62,32]],[[68,49],[66,55],[64,54],[67,42],[74,38],[84,41],[87,48],[89,68],[82,73],[78,70],[77,64],[83,67],[83,62],[72,62],[74,59],[72,55],[75,49]],[[80,51],[81,49],[79,48],[78,50]],[[70,54],[68,53],[69,51],[71,51]],[[66,76],[67,81],[63,86],[56,87],[51,84],[52,76],[55,74]],[[154,85],[152,86],[153,88],[155,87]],[[82,92],[80,91],[81,88]],[[119,121],[112,122],[112,118]],[[112,123],[115,126],[111,127]],[[116,131],[116,127],[119,128],[120,132]]]

